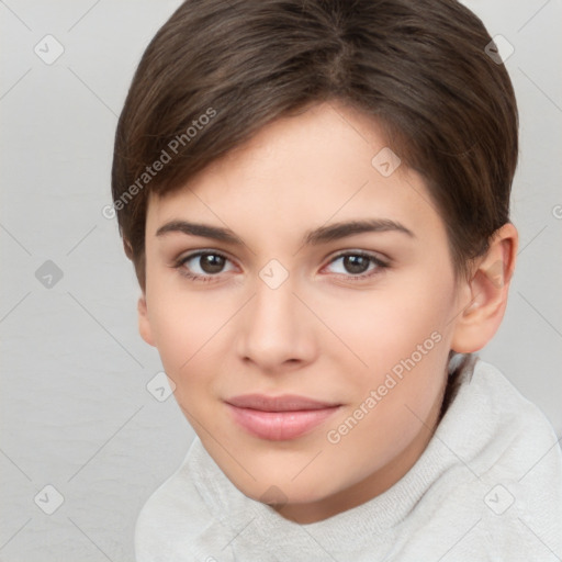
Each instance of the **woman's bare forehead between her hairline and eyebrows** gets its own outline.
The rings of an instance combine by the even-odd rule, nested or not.
[[[424,181],[398,158],[372,119],[334,102],[314,105],[266,125],[187,186],[151,194],[148,235],[181,218],[286,237],[372,217],[443,234]]]

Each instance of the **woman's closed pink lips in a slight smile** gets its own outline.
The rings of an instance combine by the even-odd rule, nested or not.
[[[241,427],[271,441],[295,439],[311,431],[340,406],[303,396],[260,394],[236,396],[226,404]]]

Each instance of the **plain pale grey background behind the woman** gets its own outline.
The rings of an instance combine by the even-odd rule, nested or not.
[[[136,516],[193,437],[173,397],[147,390],[161,366],[137,334],[136,279],[115,220],[101,212],[130,80],[179,3],[0,1],[5,562],[133,560]],[[562,2],[467,4],[515,47],[506,66],[521,115],[518,267],[503,326],[481,356],[560,435]],[[44,57],[56,54],[55,43],[45,53],[47,34],[64,47],[50,65],[34,52],[38,44]],[[64,503],[47,515],[58,494]]]

